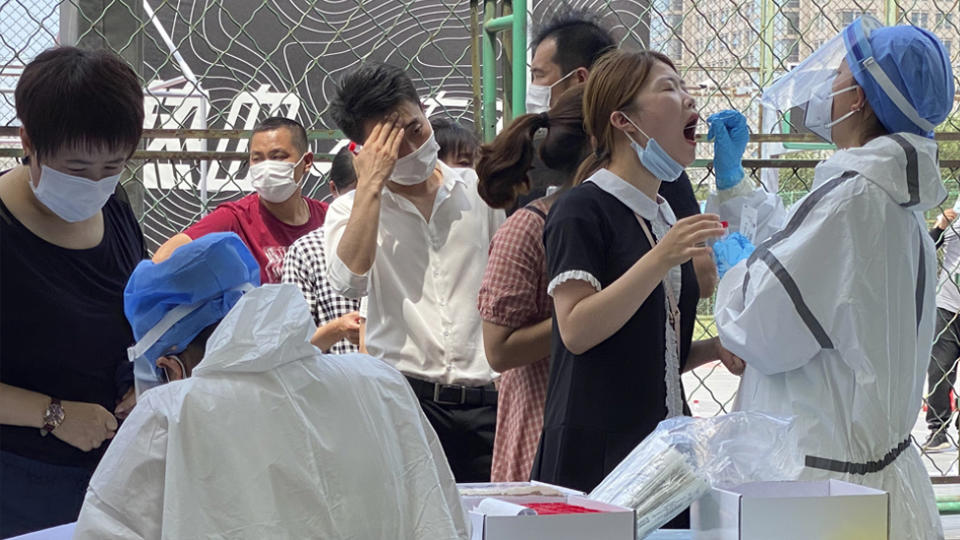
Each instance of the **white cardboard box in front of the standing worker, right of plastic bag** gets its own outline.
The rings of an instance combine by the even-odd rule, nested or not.
[[[839,480],[711,489],[690,507],[694,540],[886,540],[889,495]]]

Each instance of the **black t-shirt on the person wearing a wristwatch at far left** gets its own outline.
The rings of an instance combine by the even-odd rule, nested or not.
[[[0,201],[0,382],[113,412],[133,382],[133,333],[123,289],[145,254],[130,206],[111,196],[103,240],[83,250],[30,232]],[[32,427],[0,426],[0,450],[91,470],[106,450],[83,452]]]

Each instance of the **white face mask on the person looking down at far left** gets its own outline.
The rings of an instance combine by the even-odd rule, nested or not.
[[[119,174],[96,181],[43,165],[40,167],[40,185],[34,186],[32,178],[29,184],[33,195],[51,212],[64,221],[77,223],[96,215],[107,204],[119,181]]]

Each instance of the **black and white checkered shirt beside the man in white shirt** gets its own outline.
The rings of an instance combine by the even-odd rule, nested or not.
[[[323,228],[311,231],[290,246],[283,262],[283,283],[300,287],[318,327],[360,308],[360,300],[336,294],[327,283],[323,243]],[[341,339],[330,347],[329,352],[345,354],[358,350],[353,343]]]

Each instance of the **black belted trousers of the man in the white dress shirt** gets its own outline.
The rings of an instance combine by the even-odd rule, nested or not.
[[[446,405],[420,398],[420,407],[437,432],[457,482],[489,482],[497,408]]]

